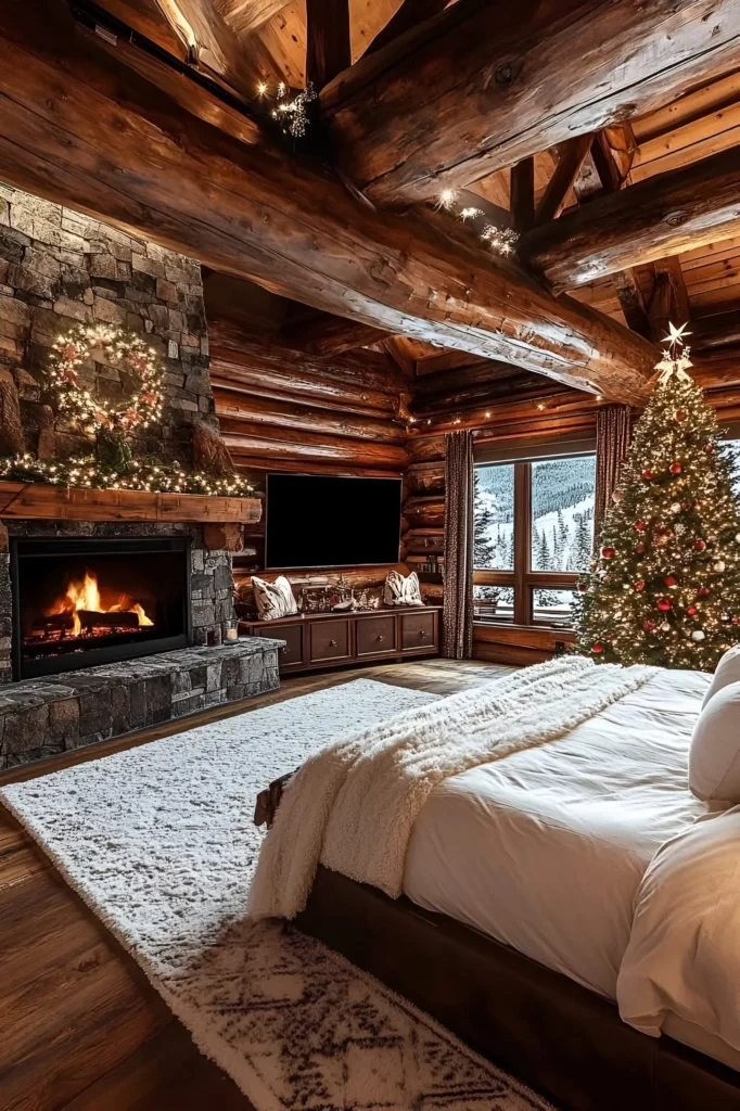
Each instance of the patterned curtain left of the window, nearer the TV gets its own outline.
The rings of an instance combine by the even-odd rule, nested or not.
[[[469,660],[473,622],[472,433],[449,432],[446,440],[442,655]]]

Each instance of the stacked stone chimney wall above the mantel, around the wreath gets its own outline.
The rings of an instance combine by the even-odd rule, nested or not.
[[[41,458],[86,447],[48,404],[44,370],[60,334],[96,321],[147,336],[164,368],[164,419],[133,440],[134,451],[190,466],[190,426],[218,428],[200,263],[0,184],[0,383],[12,376],[22,447]],[[83,374],[104,396],[123,389],[116,368],[90,363]],[[18,447],[0,443],[0,454]]]

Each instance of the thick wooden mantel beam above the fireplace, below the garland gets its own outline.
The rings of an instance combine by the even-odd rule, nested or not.
[[[261,516],[259,498],[0,482],[0,518],[6,519],[254,524]]]

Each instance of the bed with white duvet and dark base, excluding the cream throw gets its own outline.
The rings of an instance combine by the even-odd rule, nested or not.
[[[448,775],[412,823],[401,898],[321,865],[297,924],[561,1107],[738,1111],[740,815],[687,781],[709,682],[656,670],[560,737]],[[737,893],[721,928],[701,905],[709,842]]]

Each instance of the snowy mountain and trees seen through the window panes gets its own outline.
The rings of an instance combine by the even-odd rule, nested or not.
[[[588,571],[593,538],[596,458],[581,456],[532,463],[532,571]],[[476,469],[477,570],[513,570],[512,463]],[[511,615],[510,588],[478,587],[479,601],[496,602],[498,618]],[[536,590],[536,617],[567,619],[570,590]]]

